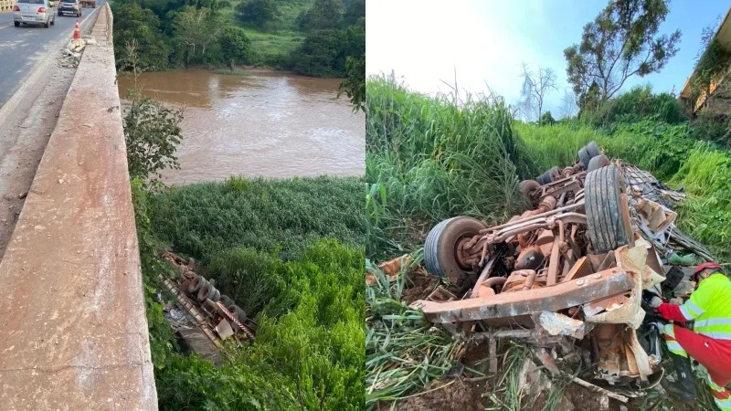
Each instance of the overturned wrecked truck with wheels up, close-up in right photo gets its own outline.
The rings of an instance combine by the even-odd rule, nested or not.
[[[578,152],[577,163],[520,188],[535,208],[505,224],[458,216],[431,229],[427,270],[466,292],[417,300],[412,308],[455,338],[487,340],[493,372],[496,340],[522,339],[554,374],[557,363],[572,365],[572,373],[585,370],[579,384],[623,401],[644,395],[664,374],[662,333],[649,301],[692,291],[682,290],[688,273],[667,266],[668,259],[681,249],[711,259],[674,225],[671,206],[684,195],[633,165],[609,161],[595,142]]]

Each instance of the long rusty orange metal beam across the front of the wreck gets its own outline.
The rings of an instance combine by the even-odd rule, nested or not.
[[[502,320],[564,310],[627,292],[633,285],[629,272],[614,268],[550,287],[505,292],[489,298],[448,302],[417,300],[411,308],[423,311],[429,321],[436,323]]]

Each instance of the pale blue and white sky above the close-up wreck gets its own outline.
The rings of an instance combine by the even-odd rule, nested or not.
[[[509,102],[519,99],[521,63],[553,68],[558,91],[546,100],[557,113],[569,89],[564,48],[578,43],[583,26],[606,5],[594,0],[368,0],[366,73],[395,70],[410,89],[449,91],[441,80],[473,93],[493,90]],[[677,93],[691,74],[705,26],[726,16],[731,2],[674,0],[662,33],[680,29],[678,54],[660,73],[628,79],[623,90],[652,84]],[[489,88],[488,88],[489,86]]]

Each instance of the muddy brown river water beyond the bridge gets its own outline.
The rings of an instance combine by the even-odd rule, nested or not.
[[[185,106],[180,170],[166,184],[230,175],[291,177],[365,174],[365,115],[353,113],[340,79],[254,70],[247,76],[206,70],[143,73],[137,88],[168,106]],[[120,96],[134,88],[119,79]]]

